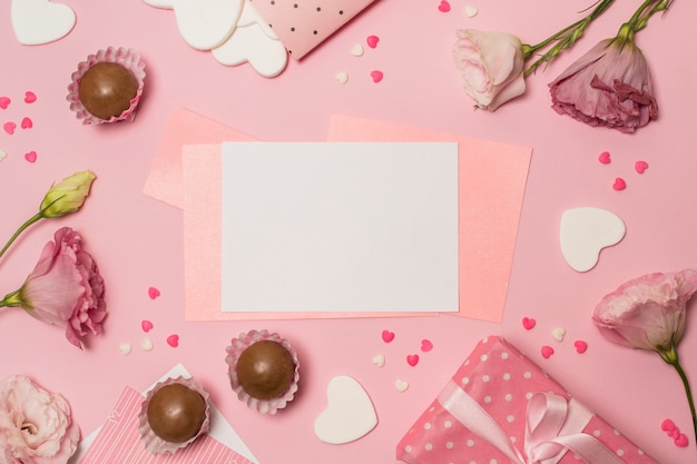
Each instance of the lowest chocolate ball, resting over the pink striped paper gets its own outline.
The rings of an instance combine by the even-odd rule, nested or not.
[[[183,443],[198,434],[206,418],[206,401],[181,384],[165,385],[153,394],[147,418],[160,438]]]

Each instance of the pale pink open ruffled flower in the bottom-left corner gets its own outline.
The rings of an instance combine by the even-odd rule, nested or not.
[[[65,464],[79,440],[80,428],[60,394],[23,376],[0,384],[0,463]]]

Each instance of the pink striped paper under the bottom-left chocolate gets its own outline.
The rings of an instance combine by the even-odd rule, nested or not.
[[[78,464],[254,464],[209,435],[174,454],[153,454],[138,432],[144,396],[126,387]]]

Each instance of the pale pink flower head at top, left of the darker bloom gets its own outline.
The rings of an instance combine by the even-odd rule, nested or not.
[[[453,47],[464,91],[478,108],[495,110],[526,91],[520,39],[502,32],[458,30]]]

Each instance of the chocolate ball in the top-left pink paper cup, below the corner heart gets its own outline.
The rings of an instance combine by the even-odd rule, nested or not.
[[[78,92],[87,111],[108,120],[130,108],[130,101],[138,92],[138,81],[126,67],[102,61],[85,72]]]

